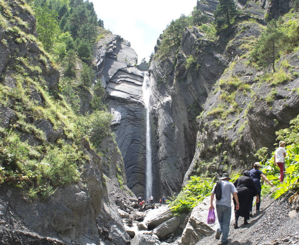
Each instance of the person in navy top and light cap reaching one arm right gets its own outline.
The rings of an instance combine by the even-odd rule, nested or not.
[[[253,165],[253,169],[251,169],[249,171],[249,175],[250,175],[250,178],[253,179],[256,187],[257,187],[257,190],[258,190],[258,193],[259,193],[259,200],[260,200],[260,192],[262,190],[262,186],[260,184],[260,178],[262,177],[264,179],[264,181],[266,181],[271,187],[273,187],[274,185],[269,181],[269,179],[264,175],[264,173],[260,170],[260,163],[256,162],[254,165]],[[252,215],[252,202],[253,202],[253,195],[251,196],[251,200],[250,200],[250,205],[249,205],[249,216]],[[256,213],[259,213],[260,212],[260,203],[261,203],[261,200],[260,202],[257,202],[257,212]]]

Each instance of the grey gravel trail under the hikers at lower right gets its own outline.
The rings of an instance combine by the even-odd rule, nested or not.
[[[243,225],[243,217],[238,220],[238,229],[234,229],[234,220],[231,220],[228,239],[231,245],[260,245],[260,244],[299,244],[299,213],[293,218],[289,217],[289,194],[280,200],[267,196],[262,199],[260,213],[255,213],[248,220],[249,224]],[[220,240],[215,239],[215,234],[201,239],[196,245],[216,245]]]

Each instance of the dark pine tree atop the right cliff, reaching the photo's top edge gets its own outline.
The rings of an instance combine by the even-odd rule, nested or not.
[[[231,20],[238,15],[239,11],[233,0],[220,0],[214,11],[216,29],[219,31],[225,26],[231,25]]]

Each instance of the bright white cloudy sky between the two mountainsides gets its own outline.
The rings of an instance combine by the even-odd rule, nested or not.
[[[104,28],[131,43],[138,55],[149,61],[157,38],[170,21],[189,15],[197,0],[90,0]]]

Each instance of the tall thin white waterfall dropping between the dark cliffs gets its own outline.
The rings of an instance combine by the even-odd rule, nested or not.
[[[144,72],[144,80],[142,84],[143,101],[146,109],[146,193],[144,200],[152,195],[153,173],[152,173],[152,147],[150,143],[150,126],[149,126],[149,95],[150,95],[150,79],[148,72]]]

